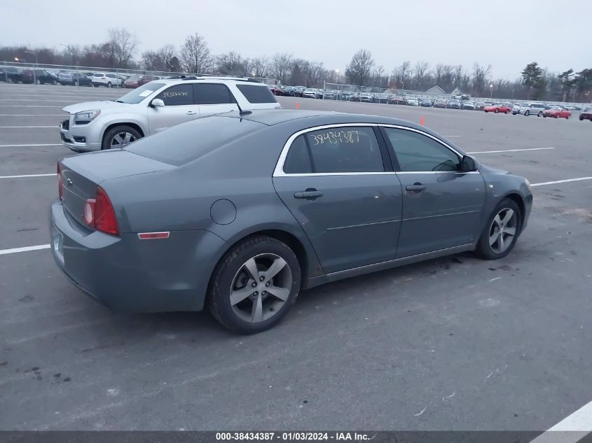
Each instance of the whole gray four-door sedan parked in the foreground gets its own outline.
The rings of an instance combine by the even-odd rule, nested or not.
[[[322,283],[502,258],[532,206],[525,178],[373,115],[235,111],[57,166],[52,252],[72,283],[126,311],[207,306],[241,333]]]

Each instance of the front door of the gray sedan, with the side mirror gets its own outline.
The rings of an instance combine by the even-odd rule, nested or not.
[[[481,174],[460,172],[460,155],[428,134],[390,127],[384,132],[403,189],[397,258],[473,243],[486,199]]]

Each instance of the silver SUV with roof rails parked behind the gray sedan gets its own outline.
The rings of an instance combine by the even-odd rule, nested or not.
[[[116,101],[66,106],[64,145],[76,152],[121,148],[195,118],[242,109],[280,108],[267,85],[248,78],[181,77],[154,80]]]

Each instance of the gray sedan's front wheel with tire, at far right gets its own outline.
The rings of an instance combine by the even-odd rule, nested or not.
[[[514,249],[521,229],[520,208],[514,200],[503,199],[495,206],[483,228],[477,243],[476,254],[483,260],[504,258]]]

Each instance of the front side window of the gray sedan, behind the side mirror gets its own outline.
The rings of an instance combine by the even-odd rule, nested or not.
[[[458,171],[459,157],[443,144],[418,132],[385,128],[403,172]]]

